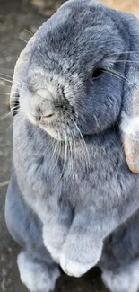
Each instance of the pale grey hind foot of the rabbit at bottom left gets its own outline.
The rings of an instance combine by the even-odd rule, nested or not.
[[[48,264],[34,258],[31,253],[22,251],[17,264],[22,283],[30,292],[49,292],[54,290],[60,271],[55,263]]]

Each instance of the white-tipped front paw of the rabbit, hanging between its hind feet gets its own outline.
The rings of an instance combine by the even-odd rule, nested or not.
[[[60,265],[68,276],[79,278],[94,267],[100,260],[102,244],[99,249],[80,250],[78,245],[76,249],[76,251],[75,248],[67,250],[67,254],[63,252],[60,257]],[[81,252],[79,252],[79,250]]]

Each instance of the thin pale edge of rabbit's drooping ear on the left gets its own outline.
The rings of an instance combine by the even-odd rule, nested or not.
[[[13,116],[18,112],[20,107],[20,88],[23,86],[28,68],[30,66],[30,58],[33,51],[35,36],[33,36],[26,47],[22,50],[14,67],[13,84],[10,95],[10,108]]]

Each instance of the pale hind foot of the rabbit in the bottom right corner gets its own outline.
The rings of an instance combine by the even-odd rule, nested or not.
[[[137,292],[139,289],[139,261],[119,273],[104,270],[102,279],[111,292]]]

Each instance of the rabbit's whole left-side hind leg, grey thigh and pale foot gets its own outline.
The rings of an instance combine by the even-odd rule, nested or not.
[[[22,199],[15,177],[6,195],[5,221],[13,239],[22,246],[17,259],[22,282],[30,292],[50,292],[60,270],[43,244],[42,223]]]

